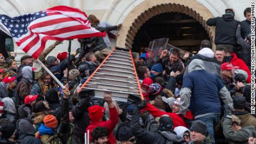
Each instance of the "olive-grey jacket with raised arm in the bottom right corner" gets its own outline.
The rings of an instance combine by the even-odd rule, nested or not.
[[[248,143],[249,137],[256,136],[256,131],[253,126],[242,127],[238,131],[233,131],[231,119],[224,118],[223,134],[230,143]]]

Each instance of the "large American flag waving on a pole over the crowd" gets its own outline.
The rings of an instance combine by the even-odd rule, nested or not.
[[[45,49],[48,39],[63,41],[105,36],[105,32],[101,33],[91,27],[85,12],[67,6],[52,7],[13,18],[0,14],[0,24],[18,47],[35,59]]]

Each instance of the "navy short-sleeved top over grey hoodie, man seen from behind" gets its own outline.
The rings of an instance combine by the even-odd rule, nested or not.
[[[191,90],[190,106],[196,115],[220,113],[218,92],[224,85],[216,75],[201,69],[190,72],[183,80],[183,88]]]

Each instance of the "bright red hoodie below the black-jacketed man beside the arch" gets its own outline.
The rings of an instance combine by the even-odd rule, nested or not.
[[[231,59],[231,64],[234,66],[235,70],[237,69],[243,69],[248,73],[247,82],[250,83],[250,70],[248,66],[245,64],[245,62],[237,57],[237,54],[232,53],[233,58]]]

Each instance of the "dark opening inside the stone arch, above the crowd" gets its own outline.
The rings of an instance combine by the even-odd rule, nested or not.
[[[169,44],[186,51],[199,51],[200,42],[208,39],[205,28],[193,17],[183,13],[162,13],[150,18],[137,31],[132,51],[141,52],[149,42],[158,38],[169,38]]]

